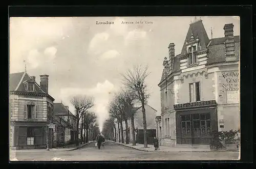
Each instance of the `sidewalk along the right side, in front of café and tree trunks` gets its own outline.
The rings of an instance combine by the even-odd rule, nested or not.
[[[113,142],[112,140],[108,140],[109,142]],[[168,146],[159,146],[160,150],[155,150],[154,145],[147,145],[147,148],[144,148],[144,145],[136,143],[136,146],[133,146],[132,143],[125,144],[125,143],[118,143],[116,144],[123,145],[125,147],[130,147],[132,149],[136,149],[139,151],[147,151],[147,152],[227,152],[227,150],[218,150],[218,151],[212,151],[210,148],[175,148],[175,147],[168,147]],[[230,151],[229,151],[230,152]],[[234,150],[232,152],[238,152],[237,150]]]

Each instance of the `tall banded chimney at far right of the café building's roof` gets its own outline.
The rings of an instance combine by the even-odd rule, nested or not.
[[[234,61],[236,57],[234,55],[234,32],[233,32],[233,23],[225,24],[224,26],[224,35],[225,35],[225,54],[226,61]]]

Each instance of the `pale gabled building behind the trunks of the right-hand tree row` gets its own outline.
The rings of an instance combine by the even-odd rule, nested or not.
[[[145,110],[146,110],[146,126],[147,126],[147,136],[148,136],[148,143],[153,143],[153,138],[156,136],[156,113],[157,110],[151,107],[150,105],[145,104]],[[142,117],[142,106],[140,107],[135,107],[135,116],[134,116],[134,128],[135,128],[135,139],[137,143],[143,144],[144,140],[144,130],[143,130],[143,117]],[[127,120],[128,123],[128,132],[129,132],[129,142],[133,141],[132,137],[132,123],[131,119],[129,118]],[[125,142],[125,122],[122,122],[123,125],[123,139]],[[119,141],[119,136],[118,136],[118,124],[116,123],[116,134],[117,134],[117,141]],[[121,136],[120,136],[121,138]]]

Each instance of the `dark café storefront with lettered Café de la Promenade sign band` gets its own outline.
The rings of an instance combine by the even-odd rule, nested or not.
[[[177,144],[207,145],[218,130],[215,100],[175,104]]]

